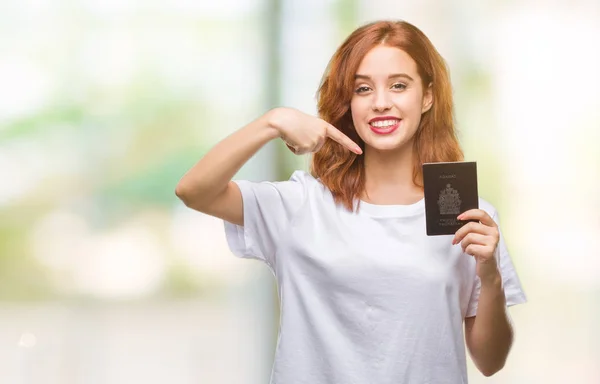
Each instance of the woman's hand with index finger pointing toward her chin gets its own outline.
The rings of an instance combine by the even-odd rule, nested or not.
[[[357,155],[362,154],[362,150],[354,141],[323,119],[285,107],[272,109],[269,114],[270,125],[296,155],[317,152],[327,138]]]

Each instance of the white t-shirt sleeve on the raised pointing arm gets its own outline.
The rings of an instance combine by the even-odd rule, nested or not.
[[[275,270],[277,245],[306,197],[307,175],[296,171],[287,181],[235,181],[242,193],[244,225],[225,221],[231,252],[257,259]]]

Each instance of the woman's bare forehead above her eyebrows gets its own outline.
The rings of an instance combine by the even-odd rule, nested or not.
[[[378,45],[371,49],[360,62],[357,74],[373,78],[394,73],[406,73],[413,79],[419,77],[417,63],[408,53],[396,47]]]

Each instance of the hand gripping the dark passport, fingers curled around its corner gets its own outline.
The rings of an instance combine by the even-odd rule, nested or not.
[[[481,209],[471,209],[461,213],[459,220],[478,220],[463,225],[454,234],[452,245],[461,244],[463,252],[475,257],[477,276],[482,283],[500,277],[496,248],[500,241],[500,231],[496,222]]]

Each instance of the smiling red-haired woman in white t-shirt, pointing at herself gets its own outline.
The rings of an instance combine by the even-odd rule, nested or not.
[[[275,108],[227,137],[179,182],[222,218],[239,257],[272,270],[281,328],[271,383],[466,383],[466,345],[486,376],[512,344],[507,306],[525,302],[494,207],[452,236],[425,234],[421,165],[459,161],[449,76],[402,21],[353,32],[318,92],[320,118]],[[311,174],[232,177],[267,142],[313,153]],[[463,334],[463,323],[465,331]]]

